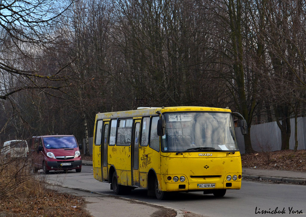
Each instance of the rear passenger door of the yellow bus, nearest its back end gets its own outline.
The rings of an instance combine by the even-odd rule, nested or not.
[[[108,164],[107,164],[107,143],[108,143],[108,127],[109,121],[104,122],[103,127],[103,141],[102,144],[102,154],[101,154],[101,162],[102,162],[102,180],[108,180]]]

